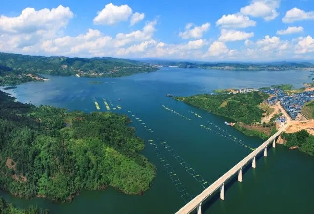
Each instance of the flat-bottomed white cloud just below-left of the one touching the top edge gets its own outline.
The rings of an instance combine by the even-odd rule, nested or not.
[[[216,26],[221,26],[223,28],[246,28],[254,27],[256,21],[252,21],[249,17],[243,14],[228,14],[223,15],[218,21],[216,21]]]

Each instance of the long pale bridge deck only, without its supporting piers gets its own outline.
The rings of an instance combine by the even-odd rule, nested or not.
[[[271,136],[268,140],[266,140],[262,145],[260,145],[257,149],[251,152],[248,156],[246,156],[243,160],[237,163],[234,167],[232,167],[228,172],[226,172],[223,176],[221,176],[218,180],[216,180],[212,185],[210,185],[207,189],[205,189],[202,193],[193,198],[189,203],[187,203],[184,207],[182,207],[176,214],[188,214],[192,212],[197,206],[202,203],[207,197],[213,194],[224,182],[226,182],[232,175],[236,174],[241,167],[247,164],[254,156],[258,155],[263,149],[268,146],[270,143],[276,139],[284,130],[286,126],[282,127],[278,130],[273,136]]]

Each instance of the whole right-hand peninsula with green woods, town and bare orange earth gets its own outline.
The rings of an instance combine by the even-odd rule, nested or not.
[[[272,136],[281,123],[289,123],[281,143],[314,155],[314,91],[310,89],[292,89],[292,85],[263,87],[260,90],[220,89],[215,90],[216,94],[174,99],[228,117],[234,128],[262,139]],[[288,96],[289,92],[290,95],[297,94]]]

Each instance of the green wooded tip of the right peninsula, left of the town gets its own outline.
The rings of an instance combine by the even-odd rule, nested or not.
[[[254,91],[237,94],[200,94],[174,98],[210,113],[229,117],[244,124],[251,124],[259,122],[263,117],[264,111],[259,108],[259,104],[268,98],[268,95]]]

